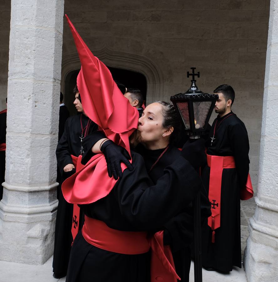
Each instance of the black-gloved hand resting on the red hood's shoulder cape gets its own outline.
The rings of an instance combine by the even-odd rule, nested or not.
[[[123,176],[121,162],[125,163],[129,170],[133,170],[133,166],[129,162],[131,157],[125,148],[116,145],[111,140],[107,140],[103,143],[100,150],[105,156],[109,177],[113,175],[115,179],[118,179],[118,177],[121,178]]]

